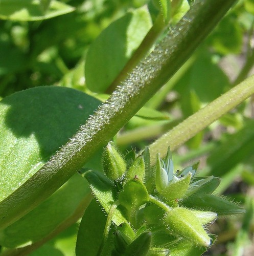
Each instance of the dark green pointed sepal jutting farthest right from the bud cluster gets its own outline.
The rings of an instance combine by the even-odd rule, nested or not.
[[[213,211],[218,216],[243,214],[245,212],[243,208],[228,201],[226,198],[209,194],[188,197],[181,202],[181,205],[188,208]]]

